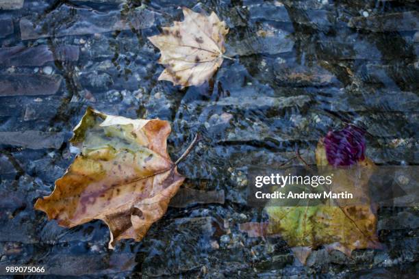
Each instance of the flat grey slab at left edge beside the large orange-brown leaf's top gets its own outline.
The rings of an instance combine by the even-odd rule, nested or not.
[[[66,133],[41,131],[0,132],[0,145],[31,149],[58,149],[64,142]]]

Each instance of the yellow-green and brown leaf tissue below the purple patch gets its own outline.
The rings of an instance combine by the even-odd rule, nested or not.
[[[316,148],[316,165],[329,165],[326,158],[323,139]],[[342,205],[338,200],[335,204],[320,204],[314,207],[274,206],[269,203],[265,207],[269,222],[240,224],[240,230],[249,237],[281,236],[287,241],[294,256],[305,264],[312,250],[324,247],[326,250],[340,250],[347,256],[355,249],[381,248],[377,236],[377,212],[368,196],[368,181],[374,170],[374,162],[365,158],[353,165],[353,172],[333,170],[333,186],[335,191],[356,189],[355,196],[364,201],[359,205]],[[357,169],[364,168],[363,176],[356,178]]]

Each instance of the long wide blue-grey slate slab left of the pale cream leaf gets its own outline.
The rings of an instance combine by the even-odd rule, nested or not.
[[[66,22],[58,26],[57,21]],[[154,13],[138,10],[126,17],[120,11],[105,14],[91,9],[61,5],[47,14],[41,22],[36,17],[25,17],[20,21],[22,40],[68,35],[96,34],[115,30],[144,29],[153,26]]]

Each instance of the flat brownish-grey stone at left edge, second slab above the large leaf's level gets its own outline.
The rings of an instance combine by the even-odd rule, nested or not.
[[[0,79],[0,96],[52,95],[58,92],[60,75],[3,75]]]

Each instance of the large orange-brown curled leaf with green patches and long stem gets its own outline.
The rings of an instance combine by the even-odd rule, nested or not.
[[[89,108],[71,139],[81,154],[35,209],[68,228],[103,220],[111,249],[119,239],[140,241],[184,180],[166,150],[169,134],[167,121],[132,120]]]

